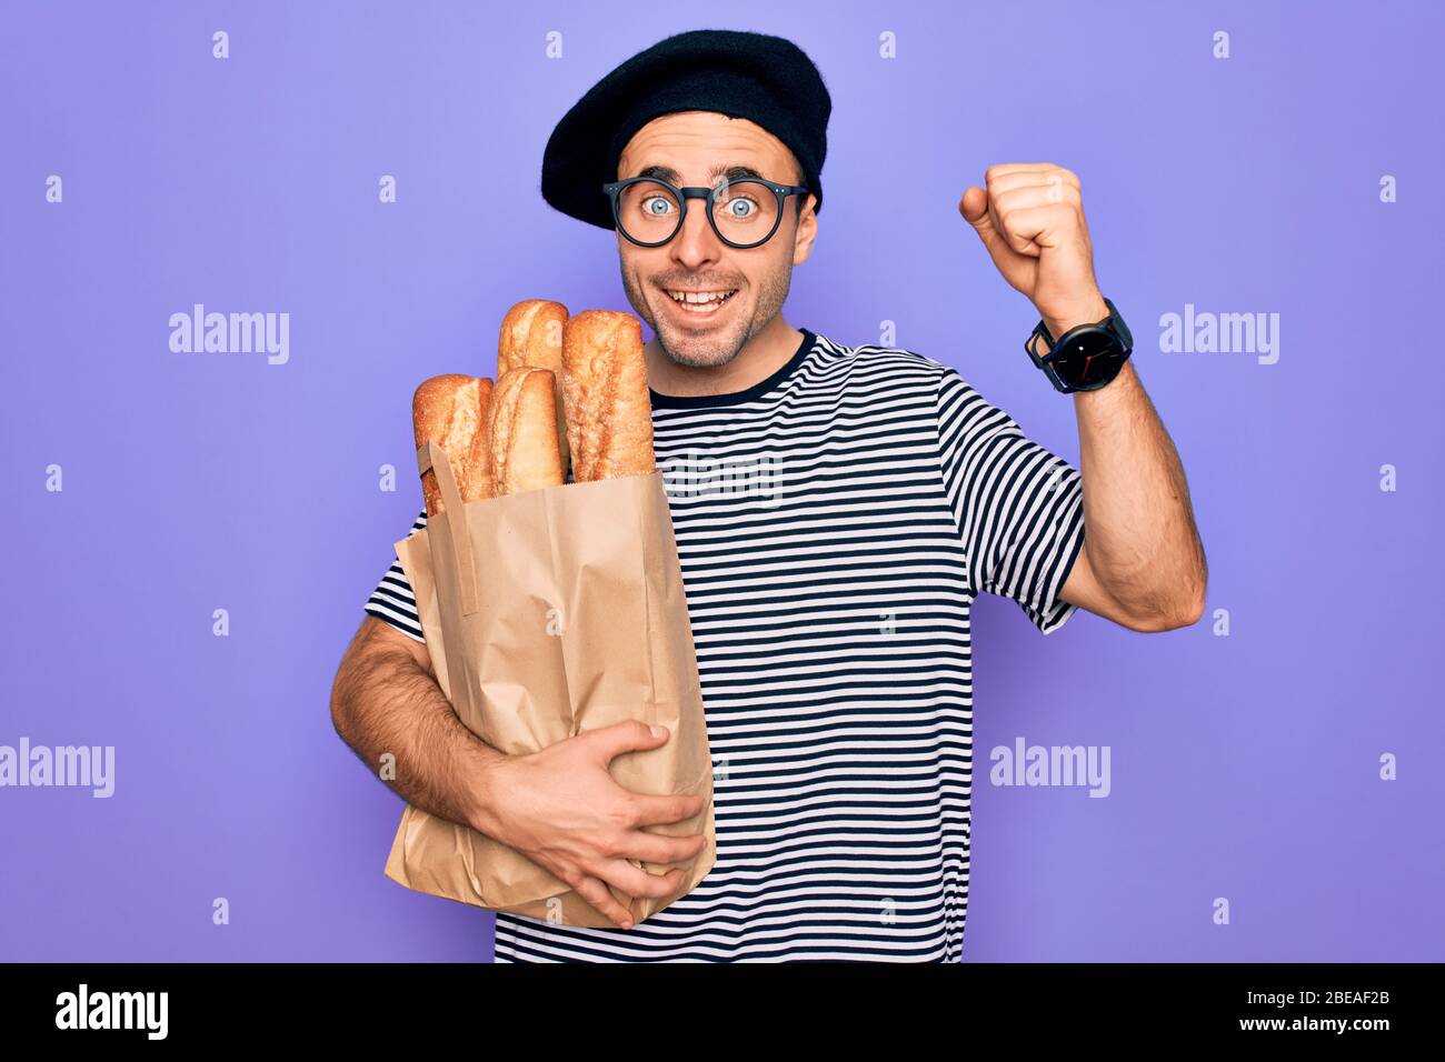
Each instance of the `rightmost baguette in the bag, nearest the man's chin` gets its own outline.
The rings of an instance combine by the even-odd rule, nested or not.
[[[584,309],[562,331],[562,399],[577,483],[656,471],[642,322]]]

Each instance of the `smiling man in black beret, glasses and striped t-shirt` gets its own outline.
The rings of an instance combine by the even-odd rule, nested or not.
[[[543,159],[548,202],[617,230],[627,301],[655,331],[655,446],[717,767],[709,874],[624,929],[608,886],[660,896],[681,874],[627,860],[701,850],[643,829],[701,798],[607,773],[668,735],[623,724],[533,756],[488,748],[431,676],[399,564],[337,676],[338,731],[367,763],[397,756],[397,792],[618,923],[503,913],[499,961],[957,961],[974,597],[1014,600],[1045,634],[1079,607],[1139,631],[1204,610],[1183,472],[1094,283],[1069,170],[993,166],[959,211],[1042,315],[1035,355],[1056,351],[1040,367],[1074,394],[1082,474],[955,370],[783,319],[818,233],[829,111],[792,43],[682,33],[584,95]]]

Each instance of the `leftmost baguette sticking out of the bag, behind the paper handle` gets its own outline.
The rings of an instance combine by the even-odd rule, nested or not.
[[[412,396],[416,445],[429,439],[447,451],[464,503],[493,496],[487,441],[491,393],[491,380],[484,376],[448,373],[423,380]],[[422,475],[422,498],[429,517],[445,511],[434,471]]]

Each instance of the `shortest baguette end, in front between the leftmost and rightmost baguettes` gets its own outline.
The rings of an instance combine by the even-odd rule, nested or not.
[[[493,488],[501,494],[561,487],[566,480],[556,435],[556,376],[522,366],[497,380],[488,406]]]

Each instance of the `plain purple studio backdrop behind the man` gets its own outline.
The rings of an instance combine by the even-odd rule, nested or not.
[[[1445,958],[1445,17],[1165,7],[6,4],[0,744],[113,744],[117,789],[0,789],[0,957],[490,958],[490,915],[383,877],[402,803],[334,734],[331,681],[419,509],[416,383],[490,374],[517,299],[627,309],[614,237],[538,194],[553,123],[725,26],[796,40],[834,97],[790,324],[894,321],[1077,464],[1072,400],[1022,351],[1038,315],[957,212],[991,163],[1065,165],[1189,475],[1195,627],[1079,613],[1043,639],[975,608],[967,958]],[[195,302],[289,312],[290,361],[172,354]],[[1162,354],[1186,302],[1279,314],[1279,363]],[[1111,796],[990,786],[1017,735],[1110,746]]]

